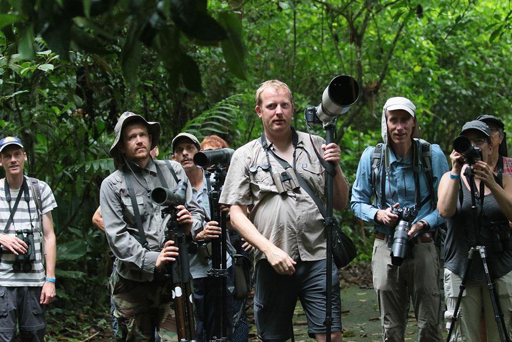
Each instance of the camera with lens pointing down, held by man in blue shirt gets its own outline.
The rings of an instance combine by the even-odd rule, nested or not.
[[[400,266],[407,255],[407,244],[409,236],[407,233],[411,230],[411,225],[416,216],[418,209],[413,208],[393,208],[391,212],[398,215],[398,225],[395,227],[393,234],[393,246],[391,247],[391,264]]]

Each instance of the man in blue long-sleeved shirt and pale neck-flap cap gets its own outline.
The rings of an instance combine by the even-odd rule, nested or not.
[[[372,273],[383,340],[403,341],[411,295],[418,341],[441,341],[434,234],[444,222],[436,200],[448,163],[438,145],[417,139],[420,131],[411,100],[389,98],[381,128],[384,144],[368,147],[361,155],[351,206],[357,217],[375,225]]]

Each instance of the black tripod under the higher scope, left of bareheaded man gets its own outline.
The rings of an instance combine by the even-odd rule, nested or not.
[[[208,276],[214,277],[215,288],[218,295],[215,296],[215,335],[212,341],[227,341],[227,243],[226,243],[226,213],[221,212],[219,206],[219,197],[222,186],[226,178],[226,167],[211,167],[206,172],[208,185],[208,199],[210,200],[211,219],[220,223],[220,239],[213,239],[211,242],[211,269]],[[214,179],[210,182],[210,175],[214,174]]]

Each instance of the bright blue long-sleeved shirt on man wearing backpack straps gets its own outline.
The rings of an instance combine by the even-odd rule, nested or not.
[[[390,234],[390,227],[379,225],[375,222],[375,214],[380,208],[380,203],[377,204],[378,208],[373,206],[372,196],[374,190],[372,187],[372,154],[373,146],[367,147],[361,155],[359,165],[357,167],[357,175],[352,186],[352,198],[350,200],[350,206],[355,216],[362,220],[375,224],[375,228],[385,234]],[[386,174],[386,206],[391,207],[395,203],[400,203],[402,207],[412,207],[416,204],[416,191],[414,183],[414,171],[413,171],[413,157],[408,156],[405,159],[398,158],[395,156],[393,149],[390,148],[390,167],[391,171]],[[382,166],[383,167],[383,162]],[[430,198],[418,212],[418,215],[414,222],[423,219],[430,225],[430,230],[434,230],[434,227],[445,222],[439,212],[436,209],[437,203],[437,189],[439,187],[439,181],[442,175],[449,171],[448,162],[446,156],[441,151],[439,145],[432,145],[432,168],[434,171],[434,190],[432,196],[435,201]],[[380,177],[382,173],[379,173]],[[421,167],[420,158],[420,171],[419,171],[419,184],[420,184],[420,198],[423,201],[426,197],[431,194],[428,187],[428,177],[423,168]],[[377,189],[380,192],[380,188]],[[424,233],[424,231],[422,231]]]

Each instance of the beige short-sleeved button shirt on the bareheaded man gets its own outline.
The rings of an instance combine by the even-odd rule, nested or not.
[[[296,170],[315,191],[325,205],[325,177],[311,145],[309,135],[297,132]],[[325,140],[313,135],[318,151]],[[280,155],[273,147],[276,155]],[[307,153],[306,153],[307,151]],[[309,154],[309,155],[308,155]],[[269,154],[272,171],[283,172],[283,167]],[[258,231],[276,247],[288,253],[295,261],[315,261],[326,258],[324,217],[313,199],[302,188],[288,190],[280,195],[269,171],[261,169],[267,157],[258,140],[240,147],[234,152],[219,202],[227,205],[248,205],[250,220]],[[249,174],[249,168],[258,171]],[[254,262],[266,258],[255,250]]]

